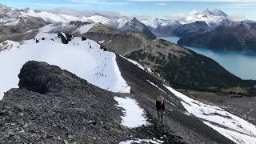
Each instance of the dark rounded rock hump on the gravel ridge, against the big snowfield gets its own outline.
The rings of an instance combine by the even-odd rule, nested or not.
[[[21,89],[41,94],[63,89],[85,89],[88,84],[75,74],[44,62],[26,62],[18,78],[20,78],[18,86]]]

